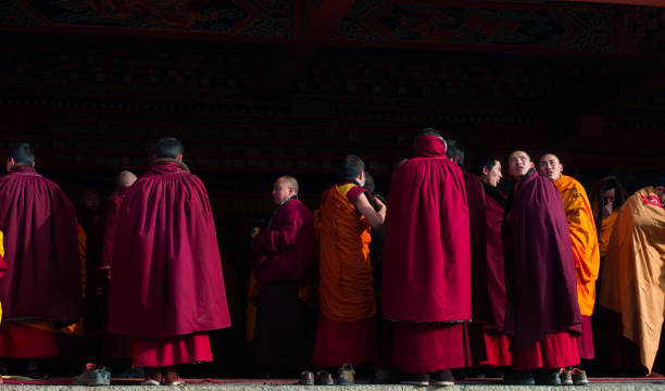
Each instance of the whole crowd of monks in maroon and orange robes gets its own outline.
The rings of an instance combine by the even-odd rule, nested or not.
[[[39,361],[59,355],[57,333],[103,340],[147,368],[145,384],[181,384],[179,365],[213,360],[209,333],[230,317],[208,193],[183,151],[164,138],[146,174],[121,173],[91,236],[35,169],[34,148],[10,147],[1,374],[20,361],[42,376]],[[416,386],[452,384],[456,368],[497,370],[512,384],[586,384],[600,311],[595,346],[610,346],[610,365],[654,375],[665,177],[630,197],[605,177],[589,199],[551,153],[535,162],[512,152],[507,191],[502,159],[478,156],[466,172],[463,160],[427,128],[384,198],[363,161],[346,156],[313,212],[294,177],[277,178],[274,213],[251,238],[253,361],[302,370],[303,384],[352,384],[356,368]]]

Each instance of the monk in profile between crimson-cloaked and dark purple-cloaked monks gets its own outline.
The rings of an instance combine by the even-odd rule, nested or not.
[[[484,239],[485,247],[481,252],[485,262],[485,289],[474,287],[472,299],[486,303],[489,307],[486,318],[481,318],[482,330],[481,341],[476,349],[484,349],[484,355],[477,360],[477,364],[489,367],[503,367],[513,364],[510,352],[510,339],[503,332],[505,318],[505,278],[503,261],[503,243],[501,239],[501,227],[507,200],[503,192],[498,189],[499,182],[503,177],[501,173],[501,162],[495,156],[481,155],[476,159],[474,174],[479,178],[481,190],[479,199],[481,201],[482,232],[474,234]],[[470,191],[467,180],[467,192]],[[472,210],[472,195],[469,199],[469,212]],[[473,254],[473,247],[472,247]],[[479,278],[475,278],[476,280]]]

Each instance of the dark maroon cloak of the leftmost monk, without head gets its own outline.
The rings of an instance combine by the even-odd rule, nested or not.
[[[12,167],[0,178],[0,230],[9,267],[0,279],[2,320],[78,321],[78,223],[60,187],[33,167]]]

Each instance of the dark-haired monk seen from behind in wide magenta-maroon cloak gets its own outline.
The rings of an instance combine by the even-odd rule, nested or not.
[[[121,205],[108,331],[133,338],[133,366],[150,368],[145,384],[178,386],[175,366],[212,361],[208,332],[229,325],[208,192],[180,141],[161,139]]]

